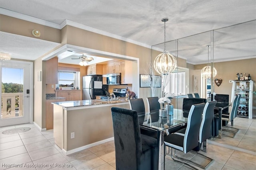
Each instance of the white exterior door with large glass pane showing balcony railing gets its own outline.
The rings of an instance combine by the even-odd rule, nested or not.
[[[33,63],[0,61],[0,126],[32,123]]]

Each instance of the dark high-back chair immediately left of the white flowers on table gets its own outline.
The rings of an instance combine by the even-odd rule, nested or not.
[[[159,109],[160,109],[160,103],[158,102],[158,97],[150,97],[146,98],[148,103],[148,111],[149,111],[149,118],[150,122],[157,122],[159,119]]]

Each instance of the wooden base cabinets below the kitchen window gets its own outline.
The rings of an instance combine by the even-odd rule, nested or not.
[[[55,95],[66,98],[66,101],[82,100],[81,90],[57,90]]]

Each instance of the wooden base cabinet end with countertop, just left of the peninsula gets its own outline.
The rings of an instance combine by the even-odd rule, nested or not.
[[[65,102],[66,99],[46,100],[46,130],[53,129],[53,104],[52,102]]]

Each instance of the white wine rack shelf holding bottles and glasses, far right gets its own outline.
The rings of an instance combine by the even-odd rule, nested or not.
[[[241,94],[237,116],[252,119],[252,91],[253,80],[230,80],[232,82],[232,94]]]

